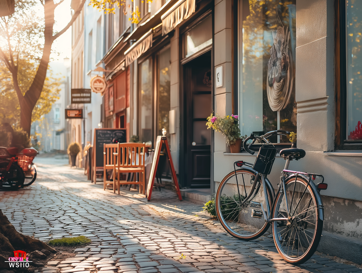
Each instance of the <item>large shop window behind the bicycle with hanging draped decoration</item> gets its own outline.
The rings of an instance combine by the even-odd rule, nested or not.
[[[239,116],[242,135],[296,132],[296,1],[240,0]],[[274,136],[274,143],[289,142]]]

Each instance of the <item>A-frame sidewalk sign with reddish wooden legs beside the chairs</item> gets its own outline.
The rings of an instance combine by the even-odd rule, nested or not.
[[[163,131],[162,133],[165,134],[166,132]],[[155,177],[156,177],[156,170],[157,170],[157,165],[158,165],[158,162],[159,162],[159,159],[160,159],[162,144],[164,144],[165,148],[166,148],[168,162],[170,164],[170,169],[171,169],[171,174],[172,174],[172,180],[173,180],[173,183],[175,183],[178,198],[180,199],[180,201],[182,201],[180,188],[178,187],[175,168],[173,167],[170,146],[168,146],[167,137],[165,135],[157,136],[157,138],[156,138],[155,153],[153,154],[150,178],[148,179],[148,184],[147,184],[147,200],[148,201],[151,200],[153,182],[155,181]]]

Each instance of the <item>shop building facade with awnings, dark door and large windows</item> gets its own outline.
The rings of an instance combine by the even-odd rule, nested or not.
[[[153,147],[166,128],[180,186],[210,188],[210,197],[233,162],[256,158],[243,150],[230,153],[225,136],[207,129],[210,113],[238,115],[242,136],[295,132],[306,156],[290,169],[322,174],[328,183],[319,249],[359,262],[359,2],[169,0],[130,6],[139,9],[139,22],[121,28],[122,8],[104,20],[109,85],[103,127],[127,128],[129,137]],[[269,141],[278,149],[292,145],[282,136]],[[277,156],[268,176],[274,189],[284,165]],[[339,253],[331,247],[336,244],[354,248]]]

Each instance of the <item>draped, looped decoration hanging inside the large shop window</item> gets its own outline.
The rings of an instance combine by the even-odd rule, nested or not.
[[[293,58],[289,50],[290,31],[278,26],[273,31],[273,46],[268,61],[267,94],[271,110],[281,111],[289,103],[293,88]]]

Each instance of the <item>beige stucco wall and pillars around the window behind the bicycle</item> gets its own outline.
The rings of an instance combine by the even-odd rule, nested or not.
[[[230,20],[230,1],[215,0],[215,67],[223,66],[224,77],[224,85],[215,90],[215,112],[220,115],[231,114]],[[324,175],[328,183],[328,189],[322,192],[324,229],[361,239],[362,157],[326,153],[334,149],[335,124],[332,0],[296,1],[296,102],[297,145],[306,150],[306,157],[292,161],[289,169]],[[246,153],[227,155],[224,152],[228,152],[225,137],[215,133],[216,186],[233,170],[234,161],[255,161],[255,156]],[[284,165],[283,158],[275,159],[268,176],[274,188]]]

